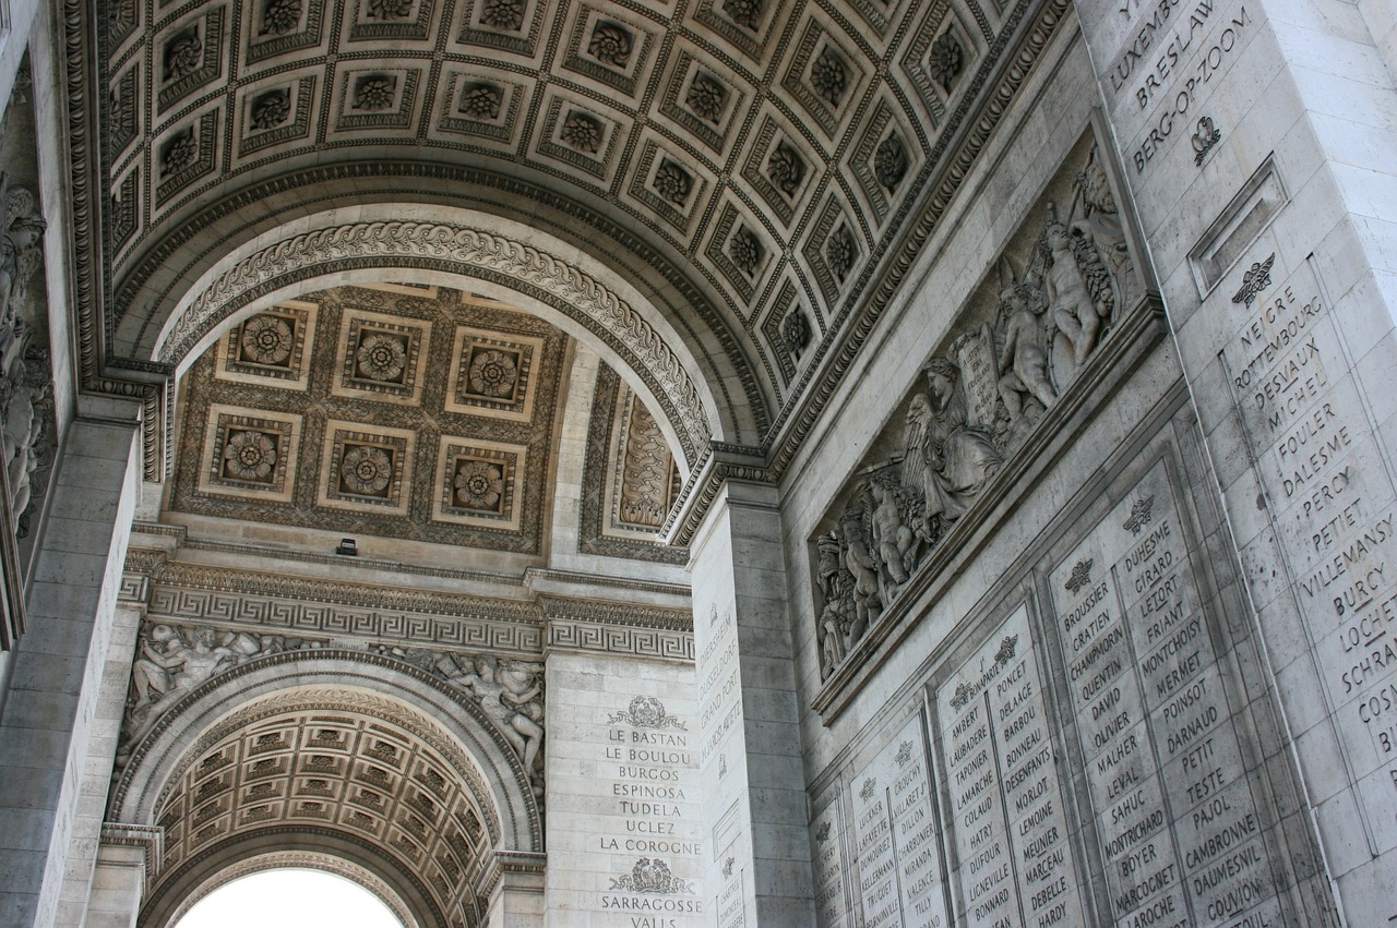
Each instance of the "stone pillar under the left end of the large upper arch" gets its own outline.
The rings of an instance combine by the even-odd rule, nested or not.
[[[17,928],[57,913],[140,473],[137,413],[85,398],[50,494],[0,714],[0,911]]]

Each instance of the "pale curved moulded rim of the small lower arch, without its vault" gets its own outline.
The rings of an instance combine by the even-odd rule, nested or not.
[[[282,652],[208,680],[137,744],[112,790],[109,818],[152,823],[198,756],[261,717],[327,705],[391,713],[462,776],[497,850],[542,851],[538,804],[520,758],[464,694],[415,667],[344,650]]]

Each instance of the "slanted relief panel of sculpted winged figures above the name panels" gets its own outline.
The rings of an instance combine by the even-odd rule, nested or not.
[[[813,539],[823,680],[961,543],[1009,472],[1090,392],[1144,299],[1101,151],[1084,138],[918,371]],[[1002,477],[1003,479],[999,479]],[[989,493],[990,490],[995,493]]]

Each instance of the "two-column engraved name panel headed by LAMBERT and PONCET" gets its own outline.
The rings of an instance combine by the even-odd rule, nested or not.
[[[1085,918],[1034,652],[1020,607],[936,692],[967,925]]]

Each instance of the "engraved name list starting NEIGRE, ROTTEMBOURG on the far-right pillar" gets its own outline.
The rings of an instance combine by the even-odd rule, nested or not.
[[[1288,561],[1308,660],[1356,788],[1370,853],[1397,848],[1397,514],[1336,321],[1309,265],[1257,262],[1222,350],[1256,476]],[[1277,280],[1271,279],[1275,272]],[[1298,666],[1298,661],[1296,661]],[[1301,713],[1296,713],[1301,714]],[[1320,802],[1336,783],[1312,779]]]

